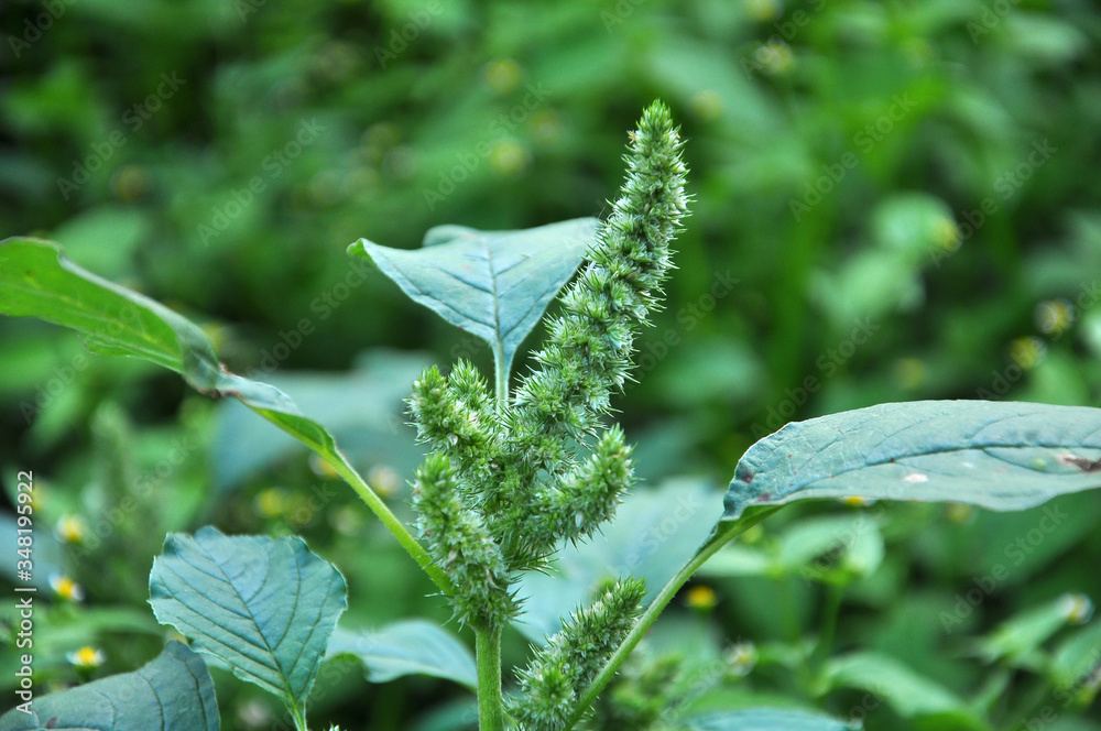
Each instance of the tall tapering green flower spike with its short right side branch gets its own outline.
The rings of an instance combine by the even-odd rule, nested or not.
[[[489,506],[494,532],[521,561],[590,535],[630,485],[622,433],[597,430],[633,366],[635,332],[658,306],[687,215],[682,145],[668,109],[652,105],[631,134],[621,195],[506,414],[504,454],[515,477]],[[576,445],[592,437],[592,456],[578,466]]]

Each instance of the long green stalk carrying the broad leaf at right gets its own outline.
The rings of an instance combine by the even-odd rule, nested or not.
[[[608,658],[607,663],[604,663],[603,668],[601,668],[600,673],[596,678],[593,678],[592,683],[585,690],[585,695],[582,695],[578,701],[574,714],[569,717],[568,721],[566,721],[566,725],[563,731],[569,731],[573,729],[577,722],[581,720],[586,711],[592,707],[592,703],[597,700],[597,696],[599,696],[600,691],[604,689],[604,686],[611,683],[612,677],[615,676],[617,670],[619,670],[620,666],[626,661],[628,655],[630,655],[635,646],[637,646],[637,644],[642,641],[642,637],[645,636],[647,631],[650,631],[650,628],[655,621],[657,621],[662,611],[671,601],[673,601],[673,598],[677,594],[677,591],[680,590],[680,587],[683,587],[688,579],[690,579],[693,575],[699,570],[699,567],[707,563],[707,560],[718,553],[718,550],[724,545],[745,533],[751,527],[778,511],[781,508],[782,505],[770,505],[768,508],[761,509],[751,515],[745,515],[741,520],[719,523],[716,527],[715,534],[708,538],[696,555],[693,556],[691,560],[688,561],[684,568],[677,571],[676,576],[669,579],[664,587],[662,587],[662,590],[654,598],[654,601],[646,608],[646,611],[639,618],[639,621],[634,623],[634,626],[631,628],[626,637],[623,639],[623,643],[615,648],[612,656]]]

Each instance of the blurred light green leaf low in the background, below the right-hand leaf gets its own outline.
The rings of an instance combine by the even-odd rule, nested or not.
[[[875,652],[833,658],[826,668],[836,688],[855,688],[885,701],[903,718],[942,719],[953,729],[985,729],[963,700],[895,658]]]

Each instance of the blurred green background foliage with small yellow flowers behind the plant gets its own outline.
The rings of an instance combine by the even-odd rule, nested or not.
[[[342,394],[342,439],[356,438],[347,394],[363,399],[357,458],[395,510],[416,461],[391,446],[412,444],[394,403],[404,371],[363,353],[491,361],[346,247],[600,215],[623,131],[654,97],[688,138],[696,199],[620,402],[650,481],[702,478],[718,504],[757,436],[879,402],[1101,405],[1101,11],[1084,0],[47,0],[2,13],[3,234],[55,239],[198,317],[233,370]],[[37,555],[53,550],[86,593],[41,615],[45,683],[76,681],[65,655],[83,645],[106,653],[92,675],[152,657],[164,632],[144,604],[149,566],[166,531],[209,522],[305,535],[348,577],[355,625],[447,619],[303,454],[56,329],[6,320],[0,341],[3,485],[35,471]],[[364,362],[391,380],[358,385]],[[653,688],[679,683],[661,717],[674,724],[689,707],[797,703],[870,729],[1097,731],[1101,620],[1068,629],[1059,601],[1101,600],[1101,503],[1053,505],[1066,517],[1049,531],[1046,509],[865,506],[872,533],[840,543],[819,514],[858,509],[785,510],[721,559],[732,572],[698,579],[711,600],[686,592],[600,717],[652,721]],[[75,543],[50,546],[55,525]],[[822,658],[807,646],[836,605],[831,685],[814,687],[805,666]],[[755,643],[753,663],[735,641]],[[506,639],[506,662],[525,642]],[[671,680],[668,651],[696,669]],[[224,728],[272,728],[265,698],[216,680]],[[318,683],[317,723],[470,718],[465,691],[439,681],[364,689],[333,663]]]

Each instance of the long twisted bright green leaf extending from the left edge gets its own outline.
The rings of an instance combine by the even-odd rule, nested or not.
[[[0,314],[69,327],[94,352],[135,356],[172,369],[197,391],[238,399],[321,457],[351,470],[333,436],[282,392],[226,371],[197,325],[80,269],[55,243],[0,242]]]

